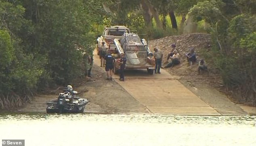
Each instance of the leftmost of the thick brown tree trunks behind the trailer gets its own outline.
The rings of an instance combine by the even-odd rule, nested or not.
[[[141,1],[141,8],[143,10],[142,16],[144,18],[145,26],[147,28],[151,29],[152,28],[152,18],[153,18],[153,16],[152,16],[152,14],[150,14],[149,8],[143,0]]]

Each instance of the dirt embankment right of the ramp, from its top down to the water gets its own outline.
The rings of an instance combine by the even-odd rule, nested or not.
[[[168,53],[171,51],[171,45],[174,43],[176,49],[181,55],[180,65],[166,69],[170,74],[177,75],[178,79],[185,87],[192,91],[195,95],[201,98],[215,109],[220,109],[219,112],[233,114],[233,111],[243,110],[249,114],[256,114],[256,107],[247,106],[246,103],[239,103],[231,97],[231,91],[227,91],[222,83],[222,78],[218,74],[218,70],[213,67],[211,60],[203,58],[203,54],[211,49],[211,36],[205,33],[183,34],[178,36],[166,36],[161,39],[149,41],[149,47],[157,47],[164,53],[163,63],[166,62]],[[197,63],[190,66],[187,62],[185,53],[189,53],[189,49],[193,47],[197,55]],[[208,65],[209,73],[198,75],[198,62],[204,59]],[[229,100],[233,101],[230,102]],[[239,105],[237,107],[236,105]],[[232,110],[233,111],[232,111]]]

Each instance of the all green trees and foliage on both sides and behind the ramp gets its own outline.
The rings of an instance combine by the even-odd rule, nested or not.
[[[157,39],[182,33],[187,16],[210,24],[225,85],[256,104],[255,14],[254,0],[0,0],[0,108],[84,76],[83,54],[105,25]]]

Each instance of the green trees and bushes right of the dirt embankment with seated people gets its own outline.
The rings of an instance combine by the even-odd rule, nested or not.
[[[213,42],[210,58],[227,88],[239,89],[241,101],[256,105],[256,16],[252,7],[243,9],[246,2],[206,0],[191,8],[190,14],[195,20],[210,23]],[[223,6],[234,10],[224,10]]]

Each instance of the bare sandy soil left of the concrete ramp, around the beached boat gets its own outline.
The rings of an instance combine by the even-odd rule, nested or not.
[[[92,78],[81,79],[73,88],[78,91],[79,97],[89,99],[85,113],[95,114],[129,114],[148,113],[144,105],[140,104],[124,88],[115,81],[105,80],[105,71],[93,66]],[[87,80],[87,81],[86,81]],[[39,112],[46,113],[46,101],[57,97],[61,90],[54,94],[44,94],[35,97],[31,102],[19,109],[19,112]]]

